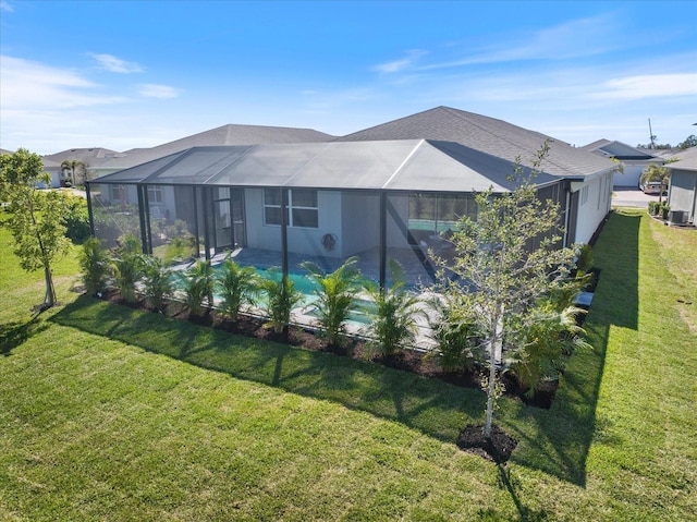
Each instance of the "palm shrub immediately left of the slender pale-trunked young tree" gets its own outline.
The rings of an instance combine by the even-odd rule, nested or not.
[[[484,361],[481,336],[476,323],[466,314],[466,308],[453,306],[448,295],[438,295],[429,301],[431,314],[428,324],[433,350],[443,369],[449,372],[472,371]]]

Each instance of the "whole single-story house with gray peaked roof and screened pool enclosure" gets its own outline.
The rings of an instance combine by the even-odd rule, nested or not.
[[[286,266],[289,254],[358,255],[378,262],[372,276],[383,281],[389,252],[423,279],[432,270],[428,256],[448,254],[442,235],[458,216],[476,216],[474,193],[514,190],[517,159],[529,172],[547,139],[439,107],[333,142],[175,151],[89,183],[90,208],[99,214],[98,236],[101,230],[114,239],[106,230],[123,232],[131,219],[149,252],[168,241],[163,223],[180,220],[206,257],[246,248],[276,252],[271,257]],[[552,141],[535,181],[540,198],[562,207],[564,244],[587,243],[607,216],[615,168]]]

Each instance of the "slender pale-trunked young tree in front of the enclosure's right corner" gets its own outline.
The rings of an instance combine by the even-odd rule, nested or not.
[[[560,247],[560,206],[540,201],[533,181],[548,151],[546,143],[529,175],[516,169],[512,192],[494,194],[489,189],[476,194],[476,219],[463,217],[451,238],[456,255],[448,269],[456,278],[443,277],[443,290],[460,308],[454,315],[477,332],[487,355],[486,437],[491,436],[500,390],[497,369],[504,351],[524,349],[525,332],[535,320],[530,311],[570,280],[574,250]]]

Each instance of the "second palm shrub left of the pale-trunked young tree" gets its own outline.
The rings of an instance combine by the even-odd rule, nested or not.
[[[420,307],[421,300],[406,289],[404,269],[394,259],[388,262],[392,287],[380,289],[367,281],[366,290],[375,302],[370,312],[370,333],[382,355],[393,355],[404,347],[414,344],[418,333],[417,319],[427,318]]]

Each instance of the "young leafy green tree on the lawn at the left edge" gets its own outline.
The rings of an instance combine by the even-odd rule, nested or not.
[[[14,238],[14,253],[27,271],[42,269],[46,294],[42,309],[56,304],[51,264],[70,246],[65,238],[64,216],[68,205],[57,191],[39,191],[38,183],[50,184],[37,154],[20,148],[0,155],[0,199],[10,204],[10,218],[4,221]]]

